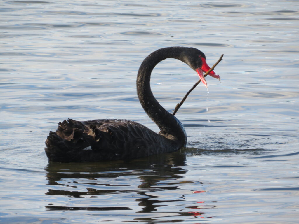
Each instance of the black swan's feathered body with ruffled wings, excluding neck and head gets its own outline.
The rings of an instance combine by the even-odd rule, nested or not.
[[[68,119],[50,132],[45,152],[53,162],[84,162],[133,159],[176,149],[175,142],[134,121]]]

